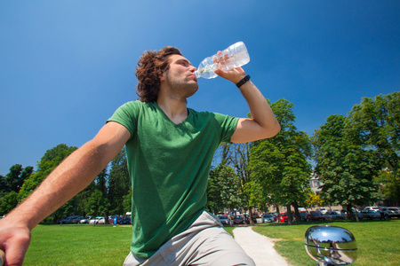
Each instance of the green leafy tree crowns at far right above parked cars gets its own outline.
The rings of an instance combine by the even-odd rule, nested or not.
[[[399,201],[400,93],[363,98],[348,116],[331,115],[313,137],[325,200],[363,205]]]

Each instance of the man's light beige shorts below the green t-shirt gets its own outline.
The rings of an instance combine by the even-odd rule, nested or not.
[[[187,231],[166,242],[148,259],[130,253],[124,266],[254,265],[243,248],[223,228],[218,217],[204,212]]]

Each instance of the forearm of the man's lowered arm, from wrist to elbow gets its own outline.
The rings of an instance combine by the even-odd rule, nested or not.
[[[105,152],[101,145],[94,145],[92,141],[86,143],[61,162],[6,218],[32,230],[94,180],[108,164],[103,159]]]

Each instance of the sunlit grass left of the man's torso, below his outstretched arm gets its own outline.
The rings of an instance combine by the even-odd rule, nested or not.
[[[131,226],[38,225],[24,265],[123,265]]]

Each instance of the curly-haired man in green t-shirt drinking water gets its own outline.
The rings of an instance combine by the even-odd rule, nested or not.
[[[215,72],[239,87],[252,118],[188,109],[186,99],[198,89],[195,70],[173,47],[142,55],[140,101],[118,108],[96,137],[0,221],[6,262],[21,264],[36,224],[90,184],[126,145],[133,191],[132,246],[124,265],[253,265],[205,211],[207,177],[220,142],[273,137],[280,126],[240,67]]]

